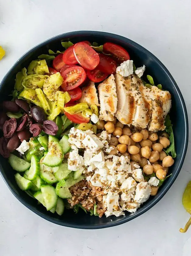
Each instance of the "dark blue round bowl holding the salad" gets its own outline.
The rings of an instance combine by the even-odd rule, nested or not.
[[[71,40],[73,43],[87,40],[90,42],[97,42],[99,44],[103,44],[104,42],[109,41],[119,44],[126,48],[126,50],[129,52],[131,59],[133,59],[136,67],[140,67],[145,64],[145,73],[153,76],[154,82],[156,84],[162,84],[165,90],[170,91],[172,95],[172,109],[170,116],[173,123],[175,147],[177,153],[175,163],[170,169],[172,175],[160,187],[157,195],[155,197],[150,197],[150,199],[146,203],[144,203],[141,208],[137,210],[137,212],[126,212],[125,216],[120,216],[118,218],[112,216],[111,218],[102,217],[101,219],[96,216],[90,216],[89,214],[86,215],[81,210],[78,214],[74,214],[73,210],[66,210],[61,217],[56,214],[52,214],[51,212],[47,212],[42,205],[37,204],[37,201],[35,199],[31,198],[25,192],[19,189],[14,180],[14,171],[8,164],[7,160],[2,157],[0,158],[1,175],[9,189],[22,204],[24,204],[31,211],[35,212],[37,215],[48,221],[62,226],[81,229],[100,229],[116,226],[128,222],[129,220],[134,219],[137,216],[148,211],[166,194],[166,192],[169,190],[169,188],[172,186],[175,179],[177,178],[182,168],[188,146],[188,116],[186,111],[186,105],[179,90],[179,87],[177,86],[172,75],[152,53],[147,51],[139,44],[136,44],[135,42],[127,39],[126,37],[97,31],[75,31],[65,33],[48,39],[47,41],[32,48],[30,51],[25,53],[14,64],[14,66],[12,66],[12,68],[2,80],[0,84],[1,99],[7,98],[7,95],[10,94],[10,92],[13,90],[16,73],[19,72],[23,67],[27,67],[32,60],[37,59],[38,55],[48,53],[48,49],[51,49],[53,51],[63,50],[60,43],[61,40]]]

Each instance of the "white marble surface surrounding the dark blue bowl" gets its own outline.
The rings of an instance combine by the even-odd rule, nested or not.
[[[190,0],[0,0],[0,80],[28,49],[73,30],[120,34],[143,45],[172,73],[191,115]],[[181,135],[180,135],[181,136]],[[191,179],[190,142],[183,168],[168,193],[147,213],[121,226],[77,230],[30,212],[0,177],[1,256],[189,256],[191,228],[179,233],[189,214],[181,199]]]

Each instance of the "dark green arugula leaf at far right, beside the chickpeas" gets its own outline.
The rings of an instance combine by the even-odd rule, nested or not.
[[[170,120],[169,115],[166,116],[166,120],[164,125],[166,126],[166,132],[169,134],[169,140],[170,140],[170,146],[165,149],[166,153],[170,153],[172,154],[172,158],[176,157],[176,151],[175,151],[175,142],[174,142],[174,134],[173,134],[173,130],[172,130],[172,123]]]

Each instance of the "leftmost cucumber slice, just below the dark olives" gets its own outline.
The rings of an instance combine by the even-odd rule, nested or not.
[[[17,172],[25,172],[27,169],[30,168],[29,162],[13,154],[10,154],[8,161],[12,169],[16,170]]]

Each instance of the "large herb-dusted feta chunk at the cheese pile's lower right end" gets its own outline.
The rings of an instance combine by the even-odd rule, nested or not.
[[[151,188],[148,182],[141,181],[136,185],[134,201],[142,204],[149,198]]]

